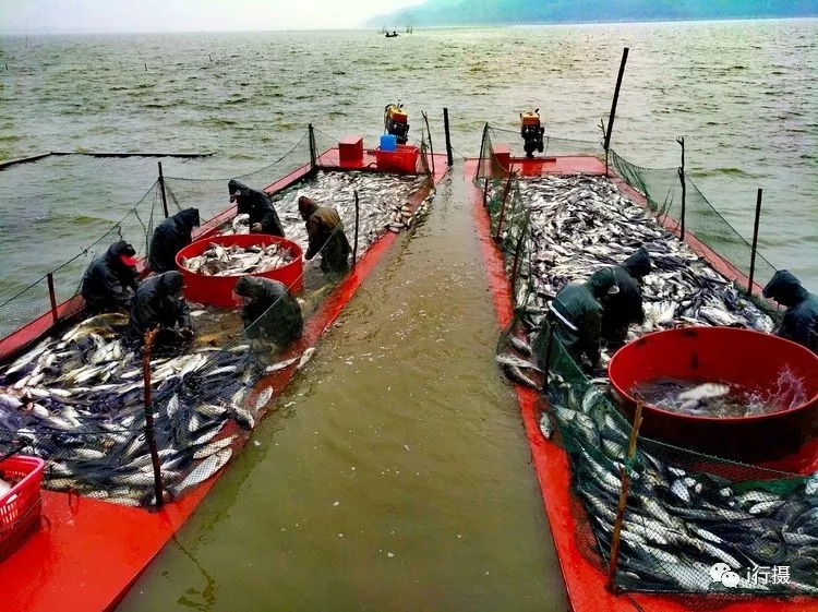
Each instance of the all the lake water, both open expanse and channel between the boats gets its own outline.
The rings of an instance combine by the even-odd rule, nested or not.
[[[321,143],[360,133],[375,146],[400,99],[410,140],[423,110],[442,151],[444,107],[452,120],[458,161],[428,223],[363,285],[121,609],[564,609],[515,396],[493,362],[459,159],[478,155],[485,122],[515,130],[536,107],[548,135],[599,142],[628,47],[613,148],[675,167],[685,136],[688,172],[745,237],[762,188],[760,252],[817,291],[817,35],[818,20],[785,20],[0,38],[0,158],[214,152],[163,166],[219,179],[225,207],[227,179],[285,155],[308,123]],[[0,171],[0,302],[81,253],[156,176],[155,159],[77,156]]]

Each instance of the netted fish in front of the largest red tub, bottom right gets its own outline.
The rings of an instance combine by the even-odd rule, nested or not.
[[[540,429],[550,439],[552,419],[558,424],[575,491],[606,557],[630,428],[594,385],[585,392],[563,386],[558,395],[562,400],[543,412]],[[736,483],[681,469],[641,444],[635,459],[621,532],[621,587],[818,595],[818,472],[782,488],[781,481]],[[713,578],[718,563],[737,574],[736,587]],[[786,581],[753,579],[754,571],[769,574],[774,566],[787,567]]]

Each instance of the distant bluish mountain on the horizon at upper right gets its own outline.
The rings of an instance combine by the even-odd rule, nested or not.
[[[816,0],[430,0],[368,27],[818,16]]]

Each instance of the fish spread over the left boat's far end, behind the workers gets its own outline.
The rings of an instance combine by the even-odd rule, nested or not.
[[[318,205],[332,206],[344,221],[349,243],[354,239],[354,192],[359,200],[358,252],[364,252],[385,231],[398,232],[411,227],[428,211],[434,190],[417,207],[407,201],[429,182],[425,176],[399,176],[376,172],[320,171],[309,182],[299,183],[273,196],[273,205],[285,235],[304,248],[308,244],[304,221],[298,212],[298,199],[305,195]],[[222,235],[246,233],[243,215],[237,215],[220,229]]]

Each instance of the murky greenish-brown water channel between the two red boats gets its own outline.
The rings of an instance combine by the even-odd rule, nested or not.
[[[464,179],[120,605],[565,610]]]

